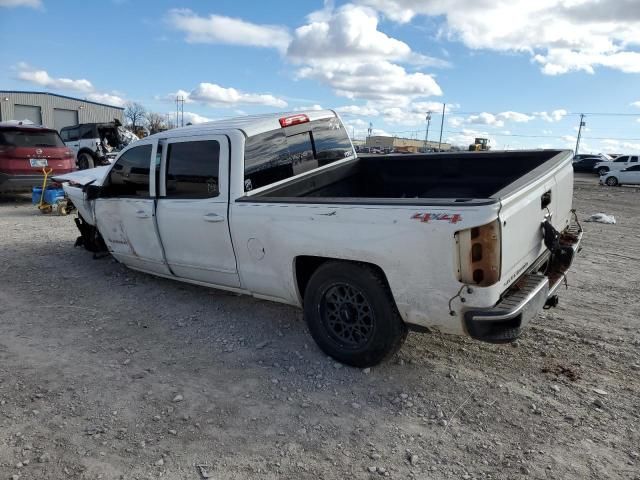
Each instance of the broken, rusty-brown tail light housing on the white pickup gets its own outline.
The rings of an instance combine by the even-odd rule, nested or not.
[[[458,280],[487,287],[500,279],[500,221],[468,228],[455,234]]]

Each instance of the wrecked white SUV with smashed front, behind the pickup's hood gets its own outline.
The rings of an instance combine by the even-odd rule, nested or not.
[[[120,150],[138,140],[119,121],[64,127],[60,130],[60,136],[65,145],[73,150],[79,170],[109,165]]]

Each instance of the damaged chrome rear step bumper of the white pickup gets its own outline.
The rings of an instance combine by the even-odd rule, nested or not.
[[[559,260],[551,252],[545,252],[535,267],[525,273],[491,308],[470,308],[464,313],[468,334],[491,343],[511,342],[520,336],[522,329],[542,310],[565,279],[580,249],[582,228],[576,222],[562,232],[561,245],[567,252]],[[568,251],[571,252],[567,259]]]

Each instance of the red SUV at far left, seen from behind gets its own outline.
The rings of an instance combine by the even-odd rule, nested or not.
[[[0,192],[27,191],[42,185],[44,167],[51,175],[75,170],[75,157],[55,130],[36,125],[0,123]]]

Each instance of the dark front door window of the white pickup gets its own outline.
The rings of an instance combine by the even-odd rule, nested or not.
[[[101,197],[148,197],[151,145],[124,152],[113,165]]]

